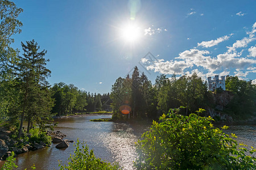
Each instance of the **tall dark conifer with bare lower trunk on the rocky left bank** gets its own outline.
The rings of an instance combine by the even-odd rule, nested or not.
[[[28,131],[30,124],[35,121],[36,124],[43,128],[45,119],[50,117],[53,100],[51,100],[48,91],[48,82],[46,78],[51,71],[46,68],[49,59],[45,59],[47,51],[38,52],[40,46],[35,40],[22,42],[24,51],[23,57],[19,56],[19,62],[14,66],[16,70],[16,80],[22,96],[22,114],[20,116],[20,127],[18,138],[22,133],[24,116],[27,116]]]

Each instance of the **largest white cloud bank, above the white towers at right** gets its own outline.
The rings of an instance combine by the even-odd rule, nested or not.
[[[212,56],[212,52],[209,50],[199,50],[197,48],[185,50],[179,53],[178,57],[170,61],[164,61],[164,59],[158,59],[154,62],[147,62],[147,70],[154,70],[162,74],[192,74],[193,71],[204,76],[214,76],[216,74],[222,75],[237,75],[240,78],[245,79],[249,73],[256,73],[255,65],[256,59],[251,56],[255,56],[256,46],[251,46],[249,49],[242,49],[237,52],[236,49],[240,47],[246,48],[249,42],[254,41],[254,31],[256,23],[253,24],[253,29],[249,32],[249,37],[243,37],[241,40],[237,40],[232,46],[227,46],[227,50],[224,53]],[[198,46],[210,47],[217,45],[218,43],[228,40],[233,34],[222,36],[217,40],[203,41],[198,43]],[[189,38],[188,38],[189,39]],[[248,40],[249,39],[249,40]],[[217,50],[217,49],[214,49]],[[250,56],[243,54],[246,50],[249,51]],[[200,69],[200,71],[199,71]],[[193,71],[191,71],[193,70]],[[236,71],[233,71],[236,70]]]

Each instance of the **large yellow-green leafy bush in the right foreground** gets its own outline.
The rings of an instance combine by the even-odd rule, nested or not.
[[[172,109],[159,120],[137,143],[137,169],[256,169],[256,158],[246,156],[243,144],[214,128],[212,117],[182,116]],[[250,154],[255,151],[252,147]]]

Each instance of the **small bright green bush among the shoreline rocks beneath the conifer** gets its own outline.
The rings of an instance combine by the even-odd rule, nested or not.
[[[46,143],[46,145],[51,145],[51,137],[46,134],[46,131],[40,131],[38,128],[30,130],[31,138],[30,142],[39,143],[40,141]]]

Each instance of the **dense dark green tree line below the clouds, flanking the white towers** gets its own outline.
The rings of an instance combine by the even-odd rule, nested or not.
[[[226,90],[231,91],[234,97],[222,113],[234,118],[253,115],[256,111],[256,86],[251,80],[227,76]],[[158,118],[162,113],[168,113],[170,108],[180,106],[185,108],[183,114],[188,115],[198,108],[216,107],[213,95],[221,91],[208,91],[207,81],[204,82],[196,73],[180,78],[176,78],[175,74],[171,78],[161,74],[156,77],[155,84],[152,84],[135,66],[131,78],[129,74],[126,78],[119,77],[112,86],[110,97],[113,100],[113,118]],[[127,109],[129,112],[126,113],[129,114],[122,114],[122,109]]]

